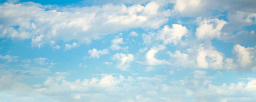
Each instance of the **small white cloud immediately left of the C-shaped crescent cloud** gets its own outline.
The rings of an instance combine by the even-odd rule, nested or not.
[[[132,54],[122,54],[122,53],[117,53],[114,54],[111,57],[112,60],[118,60],[116,63],[116,68],[119,68],[122,71],[127,71],[130,67],[130,62],[134,60],[134,56]]]

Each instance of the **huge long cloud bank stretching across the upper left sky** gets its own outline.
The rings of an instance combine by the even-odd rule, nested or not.
[[[161,14],[163,10],[157,10],[158,7],[156,2],[145,7],[106,4],[102,7],[61,9],[33,2],[3,3],[0,6],[4,21],[0,25],[0,37],[31,39],[32,46],[38,48],[52,40],[90,43],[101,35],[127,28],[159,28],[168,18]]]

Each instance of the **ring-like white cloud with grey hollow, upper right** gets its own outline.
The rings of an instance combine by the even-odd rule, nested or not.
[[[221,28],[227,24],[224,20],[197,18],[198,28],[196,28],[195,35],[198,39],[213,39],[219,38],[221,35]]]

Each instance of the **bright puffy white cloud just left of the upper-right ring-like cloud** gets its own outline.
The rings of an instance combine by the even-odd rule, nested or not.
[[[168,25],[157,33],[157,40],[163,40],[163,44],[177,45],[181,41],[181,37],[186,36],[188,29],[185,26],[179,24],[172,24],[172,28]]]

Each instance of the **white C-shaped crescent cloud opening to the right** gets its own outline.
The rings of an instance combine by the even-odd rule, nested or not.
[[[157,54],[158,51],[160,50],[164,50],[166,49],[166,47],[164,45],[158,45],[158,46],[154,46],[152,48],[150,48],[150,50],[145,54],[146,56],[146,64],[147,65],[161,65],[161,64],[170,64],[168,61],[166,60],[158,60],[155,59],[154,56],[155,54]]]

